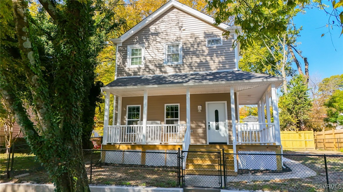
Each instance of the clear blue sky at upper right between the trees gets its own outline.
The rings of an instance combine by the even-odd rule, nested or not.
[[[301,42],[298,49],[308,58],[310,76],[317,74],[321,79],[343,73],[343,34],[339,38],[342,29],[334,27],[331,30],[332,45],[330,34],[326,33],[328,28],[322,27],[328,23],[328,19],[324,11],[316,8],[307,9],[306,14],[294,18],[297,27],[303,26],[298,38],[298,42]],[[322,33],[326,34],[320,37]],[[304,71],[304,60],[300,57],[298,59]]]

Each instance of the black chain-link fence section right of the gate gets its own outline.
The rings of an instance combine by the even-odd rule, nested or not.
[[[342,155],[225,153],[224,164],[227,169],[230,166],[228,162],[234,162],[237,176],[225,177],[227,189],[343,189]]]

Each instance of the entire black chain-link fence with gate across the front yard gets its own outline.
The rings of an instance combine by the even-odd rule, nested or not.
[[[45,173],[42,164],[27,149],[18,146],[5,150],[7,153],[0,154],[1,179]],[[92,184],[269,191],[339,191],[343,187],[343,155],[224,153],[224,150],[83,152]]]

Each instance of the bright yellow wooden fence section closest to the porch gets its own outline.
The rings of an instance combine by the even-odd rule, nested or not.
[[[315,149],[313,131],[281,131],[281,145],[285,150]]]

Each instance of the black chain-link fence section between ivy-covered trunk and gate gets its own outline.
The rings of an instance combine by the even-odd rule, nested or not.
[[[166,183],[147,181],[145,185],[160,187],[180,187],[181,166],[180,149],[178,152],[165,150],[83,150],[84,163],[91,184],[135,185],[123,182],[120,175],[135,170],[134,175],[139,180],[159,175]],[[135,180],[131,178],[130,180]],[[144,185],[143,184],[143,185]]]

